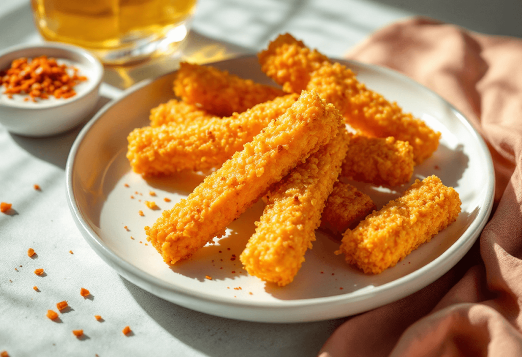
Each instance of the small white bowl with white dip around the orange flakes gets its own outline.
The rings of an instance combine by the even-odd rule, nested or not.
[[[45,137],[67,131],[84,120],[98,102],[103,66],[89,52],[76,46],[43,43],[9,47],[0,53],[0,71],[10,68],[14,59],[41,55],[78,68],[78,75],[87,77],[87,80],[74,87],[75,96],[67,99],[49,96],[49,99],[38,99],[36,103],[23,101],[28,94],[13,94],[10,99],[0,85],[0,123],[11,133]]]

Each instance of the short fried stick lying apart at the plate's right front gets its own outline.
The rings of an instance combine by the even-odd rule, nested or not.
[[[336,254],[345,253],[346,261],[364,273],[378,274],[430,241],[459,213],[458,193],[440,178],[416,180],[404,195],[348,229]]]

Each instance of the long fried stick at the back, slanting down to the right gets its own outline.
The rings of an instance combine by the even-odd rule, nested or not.
[[[410,113],[403,113],[397,103],[390,103],[381,94],[367,89],[349,68],[330,63],[326,56],[310,50],[291,35],[280,35],[258,57],[262,70],[283,85],[285,91],[305,88],[321,95],[327,88],[330,94],[325,100],[333,103],[353,128],[367,136],[393,136],[408,141],[416,164],[437,149],[439,132]],[[331,91],[332,87],[337,94]]]

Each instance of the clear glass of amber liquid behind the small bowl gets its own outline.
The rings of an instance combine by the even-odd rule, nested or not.
[[[31,5],[46,40],[86,47],[110,63],[151,55],[150,44],[169,36],[173,42],[184,38],[188,28],[184,34],[180,28],[191,19],[196,0],[31,0]]]

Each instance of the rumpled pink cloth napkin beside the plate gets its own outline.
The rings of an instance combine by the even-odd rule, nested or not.
[[[489,146],[496,192],[461,262],[419,292],[350,318],[319,355],[522,356],[522,39],[413,18],[348,57],[402,72],[461,110]]]

